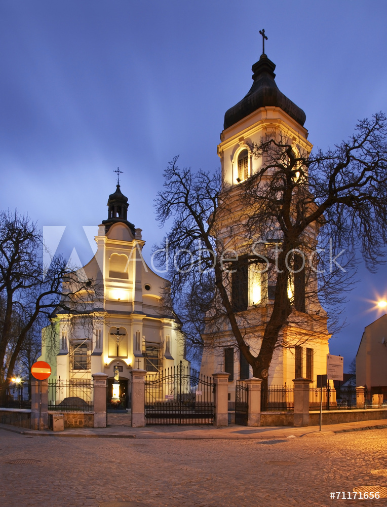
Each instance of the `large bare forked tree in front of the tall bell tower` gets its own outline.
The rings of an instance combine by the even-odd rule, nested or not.
[[[251,146],[261,168],[231,187],[218,172],[180,170],[173,159],[156,208],[162,225],[174,222],[154,255],[169,263],[166,305],[190,343],[205,334],[216,345],[228,332],[253,375],[266,379],[275,348],[294,346],[286,327],[303,330],[303,341],[326,329],[319,298],[337,309],[356,251],[371,270],[384,255],[386,134],[379,113],[348,141],[308,154],[277,132]],[[241,286],[251,266],[264,274],[270,304],[247,311]],[[248,346],[252,329],[259,350]]]

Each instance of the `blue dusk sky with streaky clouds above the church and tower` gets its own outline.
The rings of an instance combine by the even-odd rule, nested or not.
[[[65,226],[59,248],[86,263],[83,226],[107,218],[119,166],[149,256],[163,235],[152,207],[163,170],[174,155],[219,166],[224,113],[251,86],[259,29],[280,90],[325,149],[387,112],[386,21],[384,0],[1,0],[1,208]],[[385,267],[357,278],[349,325],[330,345],[347,364],[380,316],[371,301],[387,296]]]

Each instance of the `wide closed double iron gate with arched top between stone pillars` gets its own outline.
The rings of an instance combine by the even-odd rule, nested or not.
[[[212,377],[186,367],[167,368],[145,378],[145,424],[213,424]]]

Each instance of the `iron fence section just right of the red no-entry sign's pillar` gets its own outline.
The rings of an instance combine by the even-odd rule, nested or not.
[[[61,380],[48,384],[48,409],[53,411],[93,412],[92,380]]]

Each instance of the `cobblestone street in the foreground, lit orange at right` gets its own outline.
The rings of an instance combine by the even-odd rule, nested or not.
[[[387,429],[266,441],[32,437],[0,430],[0,505],[386,505],[387,498],[330,498],[359,486],[387,487],[386,475],[371,474],[387,469],[386,441]]]

